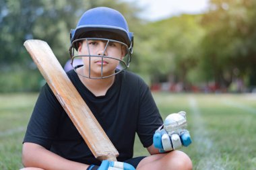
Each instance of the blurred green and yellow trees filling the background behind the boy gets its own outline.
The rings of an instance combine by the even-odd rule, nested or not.
[[[230,89],[241,80],[256,86],[256,1],[212,0],[200,15],[180,15],[158,22],[138,17],[136,2],[90,0],[0,1],[0,92],[38,91],[42,77],[23,43],[49,43],[61,65],[69,59],[69,30],[91,7],[115,8],[135,33],[130,70],[150,85],[183,83],[184,89],[214,84]]]

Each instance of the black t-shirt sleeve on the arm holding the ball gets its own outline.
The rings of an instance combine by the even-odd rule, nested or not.
[[[162,117],[148,85],[142,80],[139,83],[139,95],[137,134],[143,146],[148,147],[153,143],[154,132],[162,125]]]

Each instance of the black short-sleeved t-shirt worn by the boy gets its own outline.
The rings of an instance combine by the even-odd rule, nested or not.
[[[148,85],[140,77],[122,71],[115,76],[106,95],[96,97],[73,70],[67,75],[119,151],[118,161],[133,157],[135,132],[144,147],[152,144],[153,134],[161,126],[162,118]],[[47,84],[36,101],[24,142],[40,144],[71,161],[100,163]]]

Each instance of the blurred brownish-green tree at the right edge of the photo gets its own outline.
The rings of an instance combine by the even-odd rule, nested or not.
[[[228,87],[234,78],[256,77],[256,1],[212,0],[203,17],[201,69],[206,80]]]

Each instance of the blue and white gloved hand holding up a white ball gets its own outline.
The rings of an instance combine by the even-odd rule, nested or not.
[[[164,124],[156,130],[153,137],[154,146],[159,149],[160,153],[176,150],[182,146],[189,146],[192,141],[189,131],[185,130],[186,126],[185,112],[170,114]]]

